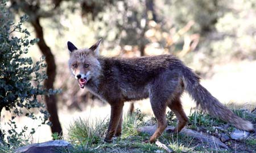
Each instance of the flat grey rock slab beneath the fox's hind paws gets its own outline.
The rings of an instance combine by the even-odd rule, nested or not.
[[[173,129],[174,129],[173,126],[167,126],[165,131],[172,131]],[[156,130],[156,126],[143,126],[142,128],[139,128],[137,130],[138,130],[138,132],[144,132],[144,133],[152,135]],[[201,142],[207,142],[210,146],[212,146],[212,148],[216,148],[216,146],[218,146],[221,148],[229,149],[229,147],[226,146],[225,143],[221,142],[220,139],[213,137],[213,136],[204,135],[202,133],[193,131],[191,129],[183,128],[179,134],[184,134],[189,137],[196,138]]]

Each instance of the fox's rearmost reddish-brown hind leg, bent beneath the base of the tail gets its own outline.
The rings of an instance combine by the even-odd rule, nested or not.
[[[179,133],[179,131],[183,129],[188,122],[188,117],[185,114],[181,105],[180,96],[177,96],[175,99],[172,99],[170,103],[168,103],[167,105],[171,109],[171,111],[174,112],[178,120],[176,128],[174,130],[170,129],[168,130],[168,132]]]

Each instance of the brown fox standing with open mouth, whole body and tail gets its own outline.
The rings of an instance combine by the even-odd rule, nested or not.
[[[71,74],[80,88],[86,88],[102,101],[110,104],[111,113],[105,142],[122,134],[123,105],[149,97],[157,129],[149,143],[154,143],[167,127],[166,109],[174,112],[177,126],[171,132],[179,133],[188,122],[181,95],[187,91],[197,107],[213,117],[229,122],[236,128],[254,131],[250,121],[243,120],[221,104],[200,84],[200,77],[192,69],[170,54],[137,58],[104,57],[99,54],[102,39],[90,48],[77,49],[67,42]]]

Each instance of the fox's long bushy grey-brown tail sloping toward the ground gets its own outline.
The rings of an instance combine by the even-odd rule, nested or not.
[[[206,111],[213,117],[220,118],[223,121],[233,124],[236,128],[246,131],[253,131],[253,124],[245,121],[234,114],[230,109],[221,104],[210,92],[200,84],[200,78],[191,69],[185,67],[183,70],[183,79],[185,90],[196,101],[196,105],[200,106],[203,111]]]

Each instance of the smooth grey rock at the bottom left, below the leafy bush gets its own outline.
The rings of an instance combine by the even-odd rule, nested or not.
[[[16,149],[15,153],[57,153],[72,148],[71,143],[64,140],[47,141],[43,143],[34,143]]]

